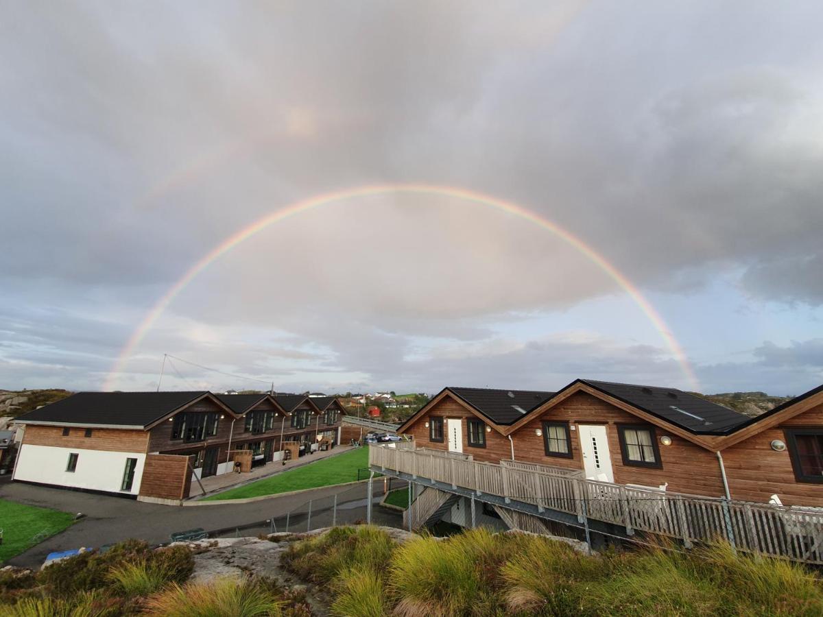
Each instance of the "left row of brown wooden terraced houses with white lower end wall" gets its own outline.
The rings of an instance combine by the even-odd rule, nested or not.
[[[340,431],[339,413],[296,394],[80,392],[17,421],[14,480],[172,501],[194,476],[233,471],[237,451],[266,464],[284,442],[309,452]]]

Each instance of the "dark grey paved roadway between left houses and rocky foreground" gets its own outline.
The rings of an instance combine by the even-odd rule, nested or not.
[[[379,482],[374,493],[379,494]],[[174,531],[202,527],[207,531],[243,526],[281,517],[309,499],[332,499],[333,494],[351,494],[351,485],[324,486],[298,494],[272,496],[272,499],[253,503],[217,502],[207,506],[174,507],[143,503],[134,499],[109,497],[72,490],[51,489],[0,480],[0,497],[21,503],[55,508],[65,512],[84,513],[85,518],[63,533],[34,546],[8,561],[12,565],[39,567],[45,556],[56,550],[76,549],[81,546],[100,546],[139,538],[151,544],[168,542]],[[361,495],[365,495],[365,488]],[[378,495],[379,496],[379,495]],[[381,508],[375,508],[375,511]],[[3,522],[2,527],[9,523]]]

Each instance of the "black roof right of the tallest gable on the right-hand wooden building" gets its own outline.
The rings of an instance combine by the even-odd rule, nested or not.
[[[586,383],[604,394],[695,434],[727,434],[749,420],[747,415],[674,387],[639,386],[591,379],[579,379],[574,383]]]

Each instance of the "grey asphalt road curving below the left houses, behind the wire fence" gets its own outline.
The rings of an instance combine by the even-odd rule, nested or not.
[[[375,501],[379,501],[379,485],[374,483]],[[362,487],[362,488],[360,488]],[[299,494],[272,496],[271,499],[253,503],[214,503],[207,506],[165,506],[157,503],[143,503],[134,499],[109,497],[72,490],[51,489],[43,486],[24,485],[0,480],[0,497],[21,503],[54,508],[64,512],[83,513],[85,517],[63,533],[44,540],[25,553],[9,559],[8,564],[27,568],[39,567],[47,554],[58,550],[77,549],[81,546],[100,546],[139,538],[151,544],[168,542],[174,531],[185,531],[202,527],[207,531],[228,530],[251,526],[275,518],[278,531],[287,512],[299,511],[291,515],[291,530],[302,531],[308,516],[305,504],[314,501],[312,528],[321,527],[321,522],[330,521],[329,508],[333,495],[338,494],[337,522],[355,522],[365,518],[365,484],[349,486],[326,486]],[[301,506],[304,506],[301,508]],[[398,527],[402,525],[398,513],[390,513],[384,508],[374,507],[373,522]],[[348,517],[346,517],[348,513]],[[0,521],[0,527],[11,527],[12,521]],[[255,536],[265,531],[260,526],[249,528],[239,535]],[[221,535],[226,535],[224,531]]]

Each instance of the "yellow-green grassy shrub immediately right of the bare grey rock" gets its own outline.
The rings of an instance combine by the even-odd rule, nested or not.
[[[391,536],[375,527],[334,527],[322,536],[291,545],[281,559],[303,578],[329,582],[349,568],[384,571],[394,547]]]

